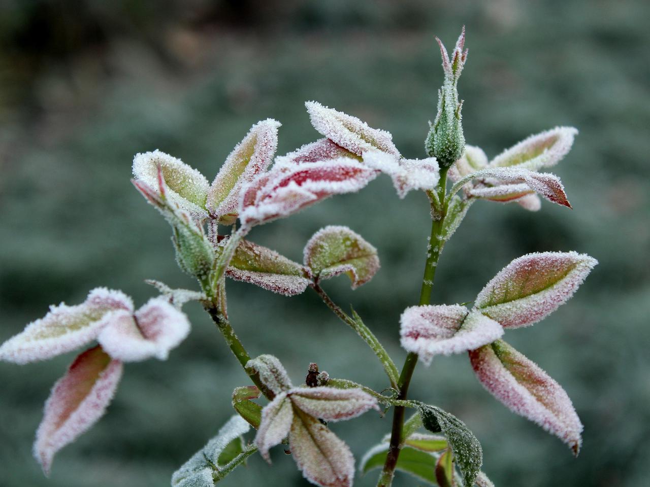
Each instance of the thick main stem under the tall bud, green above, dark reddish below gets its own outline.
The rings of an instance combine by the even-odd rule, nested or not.
[[[442,249],[442,241],[440,239],[443,222],[447,215],[448,202],[445,199],[447,190],[447,169],[441,169],[440,182],[437,187],[437,201],[439,203],[432,203],[432,216],[433,221],[431,225],[431,236],[429,239],[428,251],[426,255],[426,264],[424,264],[424,276],[422,277],[422,288],[420,290],[420,305],[428,305],[431,302],[431,291],[434,286],[435,269],[438,265],[438,259]],[[438,206],[440,205],[440,206]],[[408,386],[413,377],[413,371],[417,364],[417,353],[409,352],[400,374],[398,381],[399,395],[397,399],[400,401],[406,400],[408,393]],[[395,467],[397,460],[400,456],[400,449],[402,448],[402,426],[404,425],[404,406],[395,406],[393,412],[393,427],[391,428],[391,442],[386,455],[386,461],[383,464],[382,475],[379,478],[377,487],[390,487],[393,483],[393,475],[395,475]]]

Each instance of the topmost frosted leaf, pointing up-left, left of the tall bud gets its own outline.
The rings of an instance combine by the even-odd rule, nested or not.
[[[316,101],[307,101],[305,106],[311,118],[311,125],[320,134],[357,156],[366,151],[382,151],[400,157],[390,132],[372,129],[358,118],[320,105]]]

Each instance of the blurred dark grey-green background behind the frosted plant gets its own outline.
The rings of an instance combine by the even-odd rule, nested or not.
[[[143,279],[195,284],[177,269],[170,230],[129,183],[131,160],[161,149],[211,180],[259,119],[283,123],[279,154],[318,138],[316,99],[393,133],[423,156],[441,84],[434,34],[453,45],[467,25],[460,81],[467,142],[489,156],[554,125],[580,129],[554,172],[573,211],[479,202],[445,249],[435,303],[472,301],[499,269],[532,251],[599,259],[577,295],[506,340],[562,384],[585,425],[568,449],[510,414],[466,356],[419,366],[413,397],[460,416],[484,447],[497,486],[640,486],[650,478],[650,3],[642,0],[392,2],[118,0],[0,2],[0,340],[51,303],[120,288],[142,303]],[[400,201],[387,177],[251,238],[293,258],[311,234],[349,225],[379,249],[382,269],[350,292],[398,364],[398,316],[417,302],[426,198]],[[300,382],[309,362],[376,389],[382,370],[314,293],[281,297],[229,284],[231,320],[252,355],[277,355]],[[109,413],[57,456],[51,479],[31,456],[51,384],[74,354],[0,364],[0,485],[164,486],[231,415],[246,376],[199,305],[190,337],[166,362],[128,364]],[[389,431],[376,414],[333,425],[357,461]],[[376,475],[356,481],[372,486]],[[418,484],[398,475],[396,485]],[[224,485],[306,485],[291,457],[259,456]]]

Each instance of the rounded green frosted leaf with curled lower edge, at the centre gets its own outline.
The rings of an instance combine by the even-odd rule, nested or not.
[[[333,225],[320,229],[309,239],[304,262],[318,279],[346,273],[352,289],[370,281],[379,269],[376,248],[348,227]]]

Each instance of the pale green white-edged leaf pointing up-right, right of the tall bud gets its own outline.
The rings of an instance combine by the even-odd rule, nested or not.
[[[531,135],[493,158],[489,166],[516,166],[532,171],[554,166],[569,153],[577,133],[573,127],[556,127]]]

